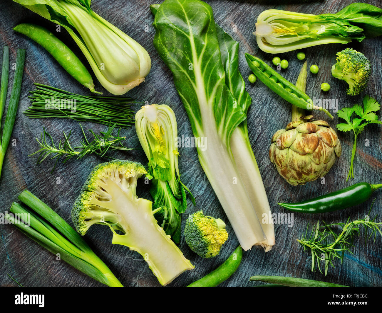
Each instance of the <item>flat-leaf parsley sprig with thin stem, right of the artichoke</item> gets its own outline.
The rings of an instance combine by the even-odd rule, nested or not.
[[[354,133],[354,143],[353,150],[351,152],[351,162],[348,177],[346,181],[349,180],[350,176],[354,178],[353,172],[353,161],[357,150],[357,137],[364,130],[365,126],[369,124],[381,124],[382,122],[378,120],[375,112],[379,111],[380,105],[376,99],[370,96],[365,96],[363,98],[363,107],[359,104],[355,104],[352,108],[343,108],[337,112],[338,117],[343,118],[346,123],[337,124],[337,129],[339,131],[353,131]],[[353,118],[350,121],[353,113],[359,116],[359,118]]]

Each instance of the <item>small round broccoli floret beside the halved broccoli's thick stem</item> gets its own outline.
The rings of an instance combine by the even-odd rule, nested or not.
[[[203,211],[197,211],[186,220],[185,239],[198,256],[208,258],[219,254],[228,233],[221,219],[204,216]]]

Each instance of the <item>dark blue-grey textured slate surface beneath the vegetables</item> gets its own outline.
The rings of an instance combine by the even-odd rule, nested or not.
[[[248,77],[250,73],[244,59],[244,52],[256,54],[269,63],[272,59],[272,55],[259,51],[255,37],[252,35],[256,18],[263,10],[275,8],[313,14],[333,13],[351,3],[351,1],[337,0],[325,2],[281,0],[272,2],[280,3],[278,5],[268,4],[269,2],[264,0],[207,2],[210,3],[214,10],[216,22],[231,34],[235,40],[240,42],[240,70],[244,77]],[[146,83],[142,83],[141,86],[133,89],[128,95],[149,103],[170,105],[175,111],[178,120],[179,136],[192,136],[186,112],[173,85],[172,75],[160,60],[152,43],[155,32],[151,26],[153,17],[149,11],[150,3],[152,2],[143,0],[100,0],[94,1],[92,9],[136,39],[147,49],[151,56],[152,69],[147,76]],[[380,5],[380,1],[377,0],[371,0],[369,3]],[[56,86],[76,93],[86,94],[87,90],[71,78],[43,48],[29,40],[29,38],[16,35],[13,32],[11,27],[20,22],[36,22],[52,31],[55,30],[55,25],[51,22],[40,18],[40,16],[19,4],[13,3],[11,0],[2,1],[0,4],[0,45],[10,47],[10,62],[15,61],[17,48],[27,50],[23,91],[15,128],[11,137],[11,139],[16,139],[17,145],[8,147],[1,177],[0,203],[2,203],[2,211],[9,209],[11,202],[16,200],[17,195],[25,188],[28,188],[71,224],[70,209],[73,201],[90,170],[102,160],[90,156],[82,161],[59,164],[53,174],[50,174],[50,169],[54,164],[53,161],[46,161],[44,164],[36,166],[36,157],[28,157],[28,155],[37,150],[34,137],[39,136],[43,127],[55,139],[62,138],[62,131],[72,130],[73,142],[81,140],[80,128],[75,121],[60,119],[31,120],[25,117],[22,112],[29,105],[28,91],[33,88],[32,83],[34,82]],[[144,31],[146,25],[148,32]],[[234,25],[237,27],[236,32],[233,31]],[[58,37],[77,53],[84,64],[87,64],[86,59],[65,30],[58,33]],[[370,94],[380,102],[382,84],[381,38],[366,39],[362,43],[355,42],[348,46],[364,52],[369,57],[372,63],[372,76],[364,94]],[[305,51],[309,66],[317,64],[320,67],[317,75],[308,74],[307,94],[312,97],[316,96],[316,98],[337,98],[340,107],[351,106],[361,101],[364,95],[346,96],[345,83],[330,75],[330,67],[335,61],[335,53],[344,48],[345,45],[338,44],[316,46]],[[295,82],[302,65],[302,62],[295,57],[295,54],[296,52],[290,52],[280,56],[289,61],[290,65],[287,70],[283,71],[283,75],[293,82]],[[13,73],[10,73],[10,84],[12,80]],[[327,81],[332,87],[329,93],[320,91],[319,86],[324,81]],[[248,82],[247,79],[246,82]],[[96,85],[98,89],[101,88],[99,83],[96,83]],[[348,183],[345,182],[353,138],[350,133],[340,133],[343,155],[335,163],[329,174],[326,175],[325,184],[320,184],[319,180],[304,186],[293,187],[287,184],[270,163],[268,149],[272,134],[278,129],[284,128],[290,121],[291,106],[272,93],[260,81],[247,86],[247,89],[253,98],[253,104],[248,113],[249,135],[273,212],[283,212],[277,206],[277,201],[300,201],[338,190],[355,182],[382,182],[381,128],[378,125],[371,125],[359,136],[357,156],[354,163],[354,180]],[[136,110],[138,110],[138,107]],[[322,112],[315,113],[315,116],[327,120]],[[335,127],[337,122],[338,118],[335,117],[334,121],[329,123],[332,127]],[[105,129],[104,126],[97,124],[85,123],[84,125],[86,128],[92,127],[96,131]],[[128,137],[130,146],[139,147],[134,128],[124,130],[123,134]],[[366,139],[369,139],[370,146],[364,145]],[[189,203],[188,209],[183,216],[182,228],[187,214],[201,208],[208,215],[222,217],[223,220],[228,222],[201,169],[196,150],[181,148],[180,154],[180,171],[183,181],[190,187],[197,201],[197,208],[194,208]],[[118,152],[113,153],[113,156],[146,163],[146,157],[142,151]],[[57,184],[57,177],[60,177],[60,184]],[[141,196],[150,197],[147,186],[142,182],[138,186],[138,190]],[[376,214],[382,211],[382,197],[380,192],[377,192],[375,196],[377,200],[374,203],[372,212]],[[304,253],[301,246],[296,242],[296,238],[301,236],[308,222],[314,223],[317,218],[324,219],[327,222],[340,222],[346,221],[349,216],[352,219],[358,219],[366,214],[371,202],[372,200],[369,200],[356,208],[320,216],[295,214],[293,227],[288,227],[286,224],[275,225],[276,245],[272,251],[266,254],[259,249],[245,252],[240,269],[221,286],[253,286],[258,284],[248,281],[251,275],[294,276],[349,286],[380,285],[382,279],[382,255],[378,247],[381,245],[381,238],[377,238],[376,243],[368,241],[365,245],[364,234],[362,233],[359,239],[357,238],[355,241],[355,247],[352,249],[354,254],[346,254],[342,265],[337,260],[335,262],[337,267],[330,268],[327,277],[321,275],[318,271],[311,272],[311,257],[309,253]],[[227,225],[227,230],[230,233],[229,240],[222,249],[220,256],[214,259],[201,259],[182,240],[180,249],[196,265],[196,268],[194,271],[188,271],[181,275],[170,286],[186,286],[209,273],[228,257],[238,245],[238,241],[230,224]],[[11,281],[6,273],[9,273],[24,286],[102,286],[102,284],[73,269],[65,262],[56,261],[55,256],[29,240],[11,225],[1,225],[0,233],[1,286],[16,286],[16,283]],[[157,279],[152,275],[146,262],[142,261],[141,256],[136,252],[129,251],[124,246],[112,245],[111,237],[112,233],[107,227],[96,225],[89,230],[85,239],[123,285],[159,286]]]

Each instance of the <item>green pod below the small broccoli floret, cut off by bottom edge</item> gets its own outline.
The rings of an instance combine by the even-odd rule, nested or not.
[[[215,287],[230,278],[238,269],[241,258],[243,257],[243,249],[238,246],[235,251],[228,257],[225,262],[216,270],[202,277],[201,279],[189,284],[187,287]]]

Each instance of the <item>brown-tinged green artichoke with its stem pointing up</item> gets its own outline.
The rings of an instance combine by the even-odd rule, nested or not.
[[[305,92],[306,62],[298,76],[296,87]],[[291,185],[303,185],[329,172],[341,155],[337,134],[325,121],[312,121],[305,111],[293,105],[292,121],[272,137],[270,161],[278,173]]]

